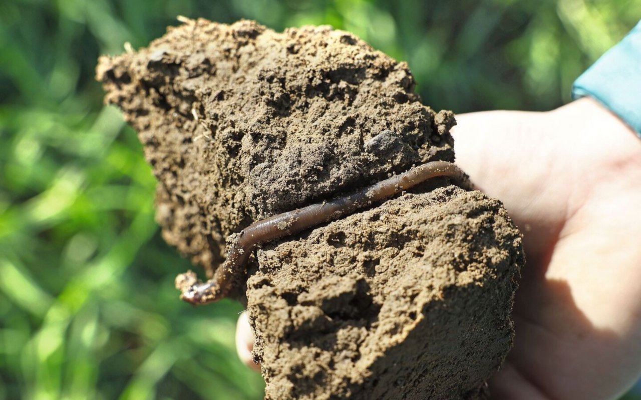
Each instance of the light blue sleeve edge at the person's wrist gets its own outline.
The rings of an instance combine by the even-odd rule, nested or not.
[[[641,22],[576,79],[572,97],[584,96],[601,102],[641,137]]]

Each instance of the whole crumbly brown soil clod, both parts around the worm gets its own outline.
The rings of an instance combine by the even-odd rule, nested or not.
[[[153,166],[163,237],[208,276],[253,221],[454,161],[453,114],[421,104],[405,63],[328,26],[186,20],[102,57],[97,79]],[[521,237],[499,201],[449,183],[256,250],[235,297],[266,399],[487,397]]]

